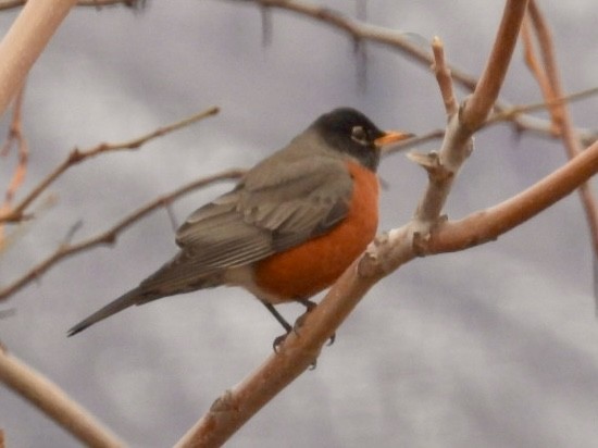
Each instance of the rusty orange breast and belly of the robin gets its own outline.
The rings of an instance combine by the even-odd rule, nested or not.
[[[378,225],[378,179],[348,164],[353,195],[348,215],[328,233],[269,257],[254,266],[259,288],[278,302],[309,298],[331,286],[372,241]]]

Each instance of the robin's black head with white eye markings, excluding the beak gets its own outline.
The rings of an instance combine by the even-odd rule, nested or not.
[[[376,171],[381,157],[378,139],[387,133],[378,129],[364,114],[351,108],[335,109],[320,116],[311,127],[332,149],[348,153],[365,167]]]

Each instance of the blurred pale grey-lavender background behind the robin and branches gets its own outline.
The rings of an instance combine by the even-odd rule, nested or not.
[[[320,2],[354,16],[363,2]],[[439,36],[451,63],[477,76],[503,2],[370,0],[369,23]],[[552,26],[568,91],[598,84],[596,2],[538,1]],[[5,33],[16,11],[0,14]],[[104,231],[145,202],[203,175],[249,167],[339,105],[382,128],[416,134],[445,124],[428,67],[366,46],[366,76],[344,34],[272,11],[263,45],[251,2],[150,1],[142,11],[76,9],[27,82],[30,148],[21,195],[74,147],[122,141],[209,105],[221,113],[140,150],[103,154],[50,188],[58,203],[0,254],[7,286],[55,250]],[[458,89],[460,99],[465,91]],[[518,47],[501,98],[541,101]],[[598,101],[572,105],[598,128]],[[546,116],[538,113],[539,116]],[[0,130],[8,128],[10,114]],[[420,150],[439,146],[433,142]],[[452,219],[500,202],[565,162],[558,141],[479,133],[445,212]],[[1,188],[15,158],[2,159]],[[402,154],[385,159],[379,229],[404,224],[425,186]],[[214,185],[173,206],[187,214],[232,187]],[[42,199],[43,200],[43,199]],[[114,247],[61,262],[1,309],[0,338],[133,447],[172,446],[225,389],[271,353],[278,324],[240,289],[212,289],[129,309],[66,338],[80,319],[128,290],[174,254],[164,210]],[[594,447],[598,440],[598,324],[593,252],[576,195],[502,236],[418,259],[382,281],[307,372],[228,447]],[[289,320],[302,307],[279,310]],[[76,447],[62,428],[0,388],[0,427],[11,447]],[[282,443],[284,440],[284,443]]]

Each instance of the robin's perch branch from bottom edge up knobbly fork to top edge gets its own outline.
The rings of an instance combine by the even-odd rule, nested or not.
[[[377,281],[420,254],[423,244],[431,239],[431,233],[438,227],[439,213],[452,182],[471,152],[471,136],[483,123],[481,117],[486,117],[498,96],[525,11],[525,4],[516,7],[513,1],[507,2],[495,51],[483,74],[483,78],[490,80],[484,82],[483,87],[474,92],[474,105],[465,112],[465,120],[461,117],[463,107],[459,113],[456,113],[453,107],[447,107],[449,123],[443,147],[438,154],[429,154],[425,163],[422,163],[428,172],[429,182],[414,219],[406,226],[376,238],[366,253],[341,275],[320,304],[307,314],[299,335],[291,332],[278,347],[277,353],[272,354],[256,372],[220,397],[176,447],[217,447],[224,444],[258,410],[313,363],[322,346]],[[436,58],[436,64],[441,67],[443,53],[437,51]],[[489,71],[498,71],[498,75],[490,75]],[[439,76],[439,85],[443,96],[448,97],[451,89],[447,86],[445,74]],[[488,98],[477,98],[482,96]],[[451,103],[450,100],[448,102]]]

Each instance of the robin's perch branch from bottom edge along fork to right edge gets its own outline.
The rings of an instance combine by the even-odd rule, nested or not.
[[[290,333],[278,353],[219,398],[178,441],[177,448],[216,447],[238,430],[317,357],[321,347],[381,278],[424,253],[441,253],[494,240],[571,194],[598,172],[598,144],[526,191],[456,223],[440,224],[415,250],[412,223],[377,237],[313,309],[299,335]]]

